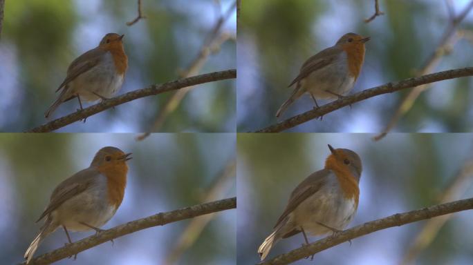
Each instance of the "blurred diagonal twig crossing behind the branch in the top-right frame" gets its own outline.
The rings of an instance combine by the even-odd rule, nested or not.
[[[449,26],[445,29],[445,32],[443,33],[443,37],[438,44],[437,48],[432,52],[430,55],[429,59],[424,63],[424,66],[421,68],[421,70],[418,72],[417,76],[420,75],[427,75],[428,73],[434,71],[434,68],[440,63],[441,57],[447,53],[448,50],[451,50],[451,47],[456,43],[458,40],[458,35],[456,34],[456,28],[463,19],[465,19],[466,15],[472,10],[473,8],[473,0],[470,1],[470,3],[467,5],[467,7],[458,14],[457,17],[451,20],[451,23],[449,23]],[[448,11],[450,12],[450,11]],[[387,124],[386,128],[382,130],[382,132],[373,137],[375,141],[378,141],[382,139],[384,136],[391,131],[394,126],[398,123],[400,117],[405,115],[411,107],[414,105],[414,102],[416,99],[419,97],[420,93],[422,93],[424,90],[429,88],[429,86],[419,86],[417,88],[414,88],[411,92],[409,92],[409,95],[407,95],[401,102],[400,106],[398,107],[398,110],[394,113],[393,117],[389,120],[389,123]]]

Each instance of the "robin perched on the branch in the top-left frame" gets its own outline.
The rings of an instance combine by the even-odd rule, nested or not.
[[[109,33],[103,37],[97,48],[77,57],[67,69],[67,76],[56,92],[61,90],[44,117],[48,118],[63,102],[75,97],[79,100],[97,101],[108,99],[120,90],[124,73],[128,67],[128,57],[123,50],[124,35]]]

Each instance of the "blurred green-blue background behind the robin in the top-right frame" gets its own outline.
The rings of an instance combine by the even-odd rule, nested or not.
[[[380,0],[383,16],[370,23],[374,0],[245,0],[238,29],[237,130],[253,131],[311,110],[308,95],[299,98],[278,120],[275,113],[288,99],[287,88],[310,56],[333,46],[346,32],[370,36],[362,72],[354,92],[389,81],[414,77],[434,52],[445,28],[449,8],[458,15],[469,0]],[[453,46],[434,72],[471,66],[473,12],[467,14]],[[473,129],[472,78],[434,83],[393,131],[469,132]],[[291,128],[293,132],[379,133],[411,89],[381,95],[353,108],[344,107]],[[321,100],[319,104],[330,101]]]

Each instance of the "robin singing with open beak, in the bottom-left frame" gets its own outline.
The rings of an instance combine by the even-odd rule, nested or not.
[[[95,230],[100,233],[106,222],[115,215],[122,203],[127,184],[128,166],[131,153],[106,146],[93,157],[89,168],[75,173],[62,181],[54,190],[46,210],[39,220],[46,217],[39,234],[26,250],[28,264],[33,258],[39,243],[50,233],[62,226],[69,243],[68,230]]]

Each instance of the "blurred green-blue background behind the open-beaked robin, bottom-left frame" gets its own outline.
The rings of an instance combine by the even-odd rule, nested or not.
[[[127,188],[120,208],[102,228],[236,194],[232,134],[159,134],[135,141],[131,134],[0,135],[0,260],[22,262],[41,222],[35,220],[57,184],[89,167],[104,146],[132,152]],[[229,168],[230,165],[230,169]],[[232,168],[233,165],[233,168]],[[205,215],[204,215],[205,217]],[[198,217],[203,218],[203,217]],[[198,219],[194,218],[194,219]],[[189,248],[173,257],[176,244],[192,219],[140,230],[79,253],[77,260],[55,264],[235,264],[236,210],[216,213]],[[194,230],[196,232],[196,230]],[[73,232],[73,242],[93,235]],[[39,246],[37,255],[64,246],[57,230]],[[171,254],[172,253],[172,254]]]

